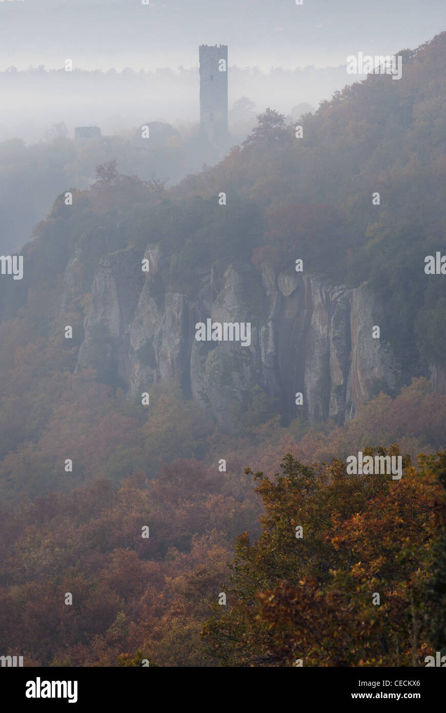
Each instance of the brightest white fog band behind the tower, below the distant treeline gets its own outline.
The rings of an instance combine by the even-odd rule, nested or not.
[[[198,48],[197,48],[198,54]],[[254,102],[254,112],[266,106],[284,114],[300,103],[316,108],[323,98],[354,81],[346,67],[295,71],[281,68],[263,73],[259,68],[229,66],[229,110],[242,96]],[[177,71],[160,68],[118,73],[28,71],[0,73],[4,109],[0,140],[16,137],[26,143],[43,138],[53,123],[63,122],[73,136],[78,125],[98,125],[105,134],[119,133],[151,121],[167,121],[179,127],[199,120],[198,67]],[[229,128],[234,128],[229,114]]]

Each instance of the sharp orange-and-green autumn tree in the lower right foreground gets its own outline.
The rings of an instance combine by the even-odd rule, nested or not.
[[[364,449],[374,452],[399,455],[397,446]],[[430,650],[435,502],[445,499],[436,462],[420,456],[417,470],[404,457],[394,481],[288,454],[274,480],[256,473],[262,532],[253,543],[237,538],[230,607],[214,607],[202,629],[209,652],[227,666],[420,665]]]

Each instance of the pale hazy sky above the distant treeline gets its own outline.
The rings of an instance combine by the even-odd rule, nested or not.
[[[216,43],[229,65],[337,66],[443,29],[446,0],[0,0],[0,70],[192,67],[199,44]]]

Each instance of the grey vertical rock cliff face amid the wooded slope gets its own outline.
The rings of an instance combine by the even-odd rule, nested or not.
[[[197,273],[197,297],[153,289],[162,256],[147,248],[142,273],[132,249],[101,262],[93,281],[78,368],[102,369],[130,397],[163,381],[179,384],[224,429],[234,404],[253,389],[277,399],[294,419],[296,393],[312,421],[351,419],[378,388],[395,389],[400,368],[388,344],[373,339],[378,303],[367,284],[331,287],[301,273],[259,274],[229,265],[222,277]],[[156,298],[156,299],[155,299]],[[251,344],[197,342],[195,324],[251,322]]]

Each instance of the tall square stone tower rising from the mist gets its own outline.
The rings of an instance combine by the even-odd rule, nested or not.
[[[199,123],[202,135],[221,143],[228,130],[228,48],[199,48]]]

